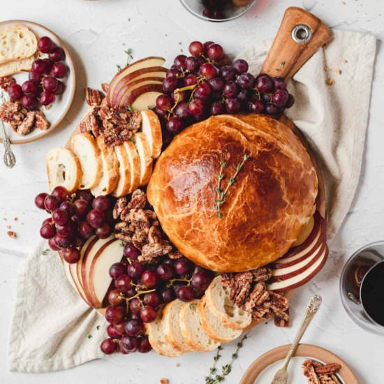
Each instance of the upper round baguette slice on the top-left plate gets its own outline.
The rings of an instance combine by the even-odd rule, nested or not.
[[[35,34],[22,24],[0,29],[0,64],[27,59],[37,50]]]

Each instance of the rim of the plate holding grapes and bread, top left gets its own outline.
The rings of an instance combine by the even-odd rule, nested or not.
[[[61,123],[61,121],[64,120],[64,118],[66,117],[66,115],[68,114],[68,111],[69,109],[71,108],[71,105],[73,103],[73,99],[75,98],[75,91],[76,91],[76,72],[75,72],[75,65],[73,63],[73,59],[71,57],[71,54],[70,52],[68,51],[68,48],[66,47],[65,43],[63,40],[61,40],[61,38],[59,38],[59,36],[57,36],[57,34],[54,33],[54,31],[52,31],[51,29],[45,27],[44,25],[42,24],[39,24],[38,22],[32,22],[31,20],[20,20],[20,19],[15,19],[15,20],[3,20],[0,22],[0,27],[3,26],[4,24],[10,24],[10,23],[15,23],[15,24],[23,24],[23,23],[28,23],[28,24],[31,24],[31,25],[34,25],[36,27],[39,27],[39,28],[42,28],[42,29],[45,29],[45,31],[49,32],[50,34],[52,34],[52,36],[54,36],[55,39],[57,39],[57,41],[59,42],[61,48],[63,48],[65,54],[66,54],[66,59],[67,59],[67,63],[68,66],[69,66],[69,70],[70,70],[70,73],[71,75],[73,75],[73,87],[72,87],[72,90],[71,90],[71,94],[69,96],[69,101],[68,101],[68,104],[66,105],[66,108],[64,109],[64,111],[61,113],[61,116],[59,117],[59,119],[57,119],[57,121],[54,122],[54,124],[52,124],[50,126],[50,128],[48,128],[47,130],[45,131],[42,131],[42,133],[38,134],[38,135],[35,135],[31,138],[25,138],[25,139],[12,139],[10,140],[10,144],[13,144],[13,145],[21,145],[21,144],[29,144],[30,142],[35,142],[37,140],[40,140],[41,138],[44,138],[46,135],[49,135],[52,131],[54,131],[57,126],[59,126],[59,124]],[[0,138],[0,143],[3,142],[3,139]]]

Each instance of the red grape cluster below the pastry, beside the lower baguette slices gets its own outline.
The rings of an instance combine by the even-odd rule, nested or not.
[[[140,251],[131,244],[124,246],[121,263],[110,267],[114,284],[107,295],[110,306],[105,312],[109,339],[101,350],[110,354],[119,348],[121,353],[151,349],[143,335],[144,323],[156,320],[158,306],[179,298],[189,302],[201,297],[212,280],[211,272],[186,258],[160,258],[158,263],[145,265],[138,261]]]

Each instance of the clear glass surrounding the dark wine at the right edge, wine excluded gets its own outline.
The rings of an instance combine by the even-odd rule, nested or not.
[[[350,318],[364,330],[384,334],[384,326],[372,320],[361,302],[364,277],[378,263],[384,262],[384,242],[374,242],[358,249],[346,262],[340,278],[340,295]]]

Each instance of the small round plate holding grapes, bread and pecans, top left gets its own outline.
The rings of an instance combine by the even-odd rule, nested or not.
[[[64,119],[65,115],[67,114],[69,108],[71,107],[71,103],[73,101],[73,97],[75,96],[75,84],[76,84],[76,75],[75,75],[75,66],[73,65],[73,60],[71,58],[71,55],[69,54],[66,46],[61,41],[61,39],[54,34],[50,29],[47,29],[46,27],[43,27],[43,25],[37,24],[36,22],[30,22],[28,20],[6,20],[3,22],[0,22],[0,27],[6,27],[8,25],[12,24],[22,24],[31,29],[31,31],[34,32],[37,38],[40,38],[41,36],[49,36],[52,38],[54,43],[57,43],[59,47],[63,48],[64,52],[66,53],[66,59],[65,64],[68,66],[68,76],[64,79],[60,79],[60,81],[64,82],[65,89],[61,96],[56,96],[56,101],[52,105],[52,108],[49,110],[46,110],[45,108],[41,108],[41,110],[44,112],[45,117],[47,117],[47,120],[50,121],[50,128],[48,128],[46,131],[40,131],[39,129],[35,129],[31,133],[25,136],[20,136],[13,131],[12,128],[10,128],[9,124],[6,125],[7,133],[10,137],[10,142],[12,144],[27,144],[29,142],[34,142],[36,140],[39,140],[40,138],[43,138],[44,136],[51,133],[54,128],[56,128],[62,119]],[[28,80],[28,73],[27,72],[21,72],[17,73],[16,75],[13,75],[15,77],[15,80],[18,84],[22,84],[25,80]],[[0,142],[2,142],[0,138]]]

